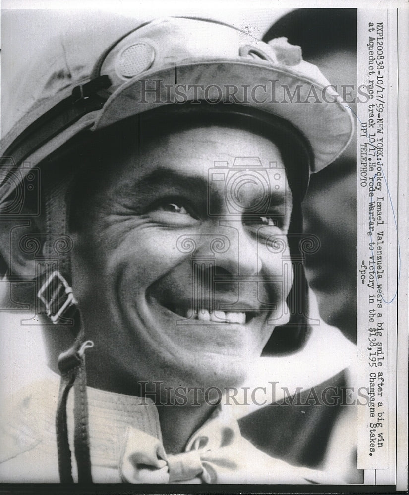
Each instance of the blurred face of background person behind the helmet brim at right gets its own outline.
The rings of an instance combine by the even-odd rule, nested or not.
[[[331,84],[355,85],[356,53],[332,50],[308,58]],[[356,90],[345,105],[356,113]],[[311,177],[303,203],[304,232],[319,237],[317,253],[307,255],[308,282],[322,318],[356,341],[356,135],[340,158]]]

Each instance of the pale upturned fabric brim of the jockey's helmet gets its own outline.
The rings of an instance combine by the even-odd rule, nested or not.
[[[255,88],[255,81],[260,91],[251,98],[249,93]],[[235,99],[232,88],[237,88]],[[164,105],[192,102],[195,98],[199,105],[200,94],[206,96],[206,89],[208,98],[202,101],[238,102],[288,120],[311,146],[314,162],[310,172],[333,162],[350,142],[351,111],[340,97],[331,99],[327,87],[300,77],[291,69],[242,59],[186,61],[183,65],[146,72],[143,79],[131,79],[110,96],[92,130]],[[291,101],[293,95],[295,101]]]

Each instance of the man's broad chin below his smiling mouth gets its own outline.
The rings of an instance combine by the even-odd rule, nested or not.
[[[128,305],[125,318],[137,336],[139,370],[170,387],[239,387],[272,332],[264,317],[244,325],[201,322],[156,300]]]

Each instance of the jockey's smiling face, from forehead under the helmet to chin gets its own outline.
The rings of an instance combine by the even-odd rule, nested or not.
[[[138,380],[240,385],[288,321],[292,196],[279,149],[218,125],[136,144],[73,233],[91,369],[135,394]]]

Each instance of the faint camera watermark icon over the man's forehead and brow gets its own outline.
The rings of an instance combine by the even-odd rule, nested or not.
[[[222,185],[226,211],[233,217],[243,214],[267,214],[274,193],[282,195],[280,211],[276,215],[284,216],[287,211],[286,170],[278,163],[271,161],[263,166],[256,156],[238,156],[230,165],[227,161],[215,161],[214,167],[208,170],[208,215],[220,216],[220,205],[212,198],[214,186]],[[248,191],[252,192],[249,203]]]

